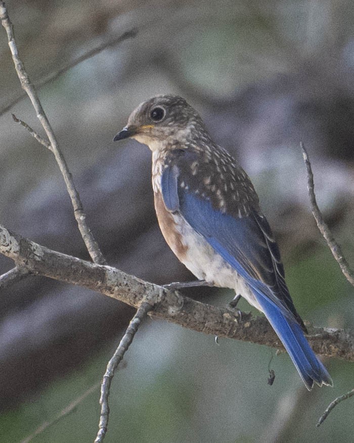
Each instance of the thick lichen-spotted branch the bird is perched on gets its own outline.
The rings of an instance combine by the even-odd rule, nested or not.
[[[136,308],[146,301],[154,305],[150,313],[152,317],[193,331],[284,349],[265,317],[242,313],[242,322],[238,323],[237,317],[226,309],[200,303],[113,267],[52,251],[1,225],[0,253],[32,273],[100,292]],[[354,337],[349,331],[318,327],[308,329],[308,342],[317,354],[354,361]]]

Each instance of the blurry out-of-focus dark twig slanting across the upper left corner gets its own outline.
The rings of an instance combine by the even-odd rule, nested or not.
[[[95,55],[99,54],[100,52],[104,51],[105,49],[112,48],[119,43],[124,42],[128,38],[133,38],[137,35],[138,31],[136,29],[130,29],[129,31],[124,32],[123,34],[119,35],[116,38],[112,38],[108,42],[103,43],[102,45],[97,46],[96,48],[92,49],[91,51],[86,52],[81,57],[75,58],[71,62],[65,64],[60,69],[58,69],[55,72],[51,72],[48,75],[46,75],[43,78],[40,78],[37,82],[34,82],[34,85],[37,89],[40,89],[42,86],[47,85],[50,82],[53,82],[58,77],[60,77],[62,74],[67,72],[69,69],[77,66],[79,63],[88,60]],[[16,97],[14,100],[12,100],[11,103],[9,103],[5,108],[0,110],[0,117],[4,115],[6,112],[8,112],[13,106],[15,106],[17,103],[19,103],[24,97],[26,97],[26,94],[20,94],[18,97]]]

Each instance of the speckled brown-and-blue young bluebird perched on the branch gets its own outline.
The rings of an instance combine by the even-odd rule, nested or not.
[[[152,151],[157,220],[176,257],[198,280],[231,288],[264,313],[308,390],[333,386],[305,338],[251,180],[213,141],[199,113],[182,97],[152,97],[113,140],[127,138]]]

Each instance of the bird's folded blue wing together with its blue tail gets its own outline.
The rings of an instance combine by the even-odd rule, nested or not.
[[[265,217],[251,211],[248,216],[236,218],[213,208],[209,200],[179,186],[176,166],[163,171],[161,188],[166,208],[179,211],[244,278],[307,389],[314,381],[332,385],[330,375],[303,335],[304,326],[285,284],[279,250]]]

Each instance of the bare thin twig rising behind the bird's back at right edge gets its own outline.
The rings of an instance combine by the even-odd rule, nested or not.
[[[302,142],[300,142],[300,147],[302,149],[302,156],[307,171],[307,189],[310,198],[311,211],[313,213],[313,216],[315,217],[317,226],[321,234],[325,238],[329,249],[332,251],[333,257],[336,259],[337,263],[339,264],[340,269],[342,270],[346,279],[349,281],[349,283],[351,283],[354,286],[354,272],[350,269],[347,261],[343,257],[340,247],[335,241],[329,227],[324,222],[320,209],[317,205],[315,190],[314,190],[314,175],[312,172],[311,164],[309,162],[307,151]]]

